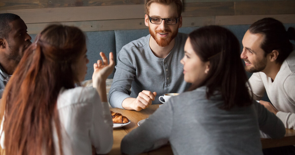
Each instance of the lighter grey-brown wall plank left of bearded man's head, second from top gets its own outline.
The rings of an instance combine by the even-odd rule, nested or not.
[[[136,19],[145,15],[143,4],[17,9],[7,12],[19,15],[26,23]]]

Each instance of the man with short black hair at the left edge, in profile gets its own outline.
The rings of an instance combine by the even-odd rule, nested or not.
[[[0,14],[0,98],[31,39],[18,15]]]

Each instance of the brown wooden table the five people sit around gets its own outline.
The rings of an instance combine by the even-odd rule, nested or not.
[[[121,154],[120,145],[123,137],[129,133],[131,130],[138,127],[137,123],[140,120],[148,118],[149,115],[153,114],[155,110],[159,107],[159,105],[150,105],[147,109],[141,111],[135,110],[124,110],[119,108],[110,108],[113,112],[119,112],[122,115],[126,116],[131,123],[123,126],[122,128],[114,129],[113,136],[114,136],[114,144],[112,150],[109,152],[109,155],[117,155]],[[286,129],[285,137],[282,139],[265,139],[261,138],[261,143],[263,149],[278,147],[278,146],[288,146],[288,145],[295,145],[295,130],[293,129]],[[170,145],[163,146],[159,149],[150,151],[148,153],[144,153],[142,155],[157,155],[157,154],[165,154],[165,155],[172,155],[172,149]]]

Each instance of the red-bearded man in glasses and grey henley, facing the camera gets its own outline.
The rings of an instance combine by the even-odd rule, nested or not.
[[[180,0],[148,0],[145,25],[150,35],[125,45],[117,56],[117,66],[109,91],[112,107],[142,110],[160,104],[158,97],[181,93],[189,87],[183,79],[186,34],[182,26]],[[131,91],[130,91],[131,88]]]

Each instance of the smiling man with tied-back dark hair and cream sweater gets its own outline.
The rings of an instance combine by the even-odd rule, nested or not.
[[[285,128],[295,129],[295,50],[290,40],[295,40],[293,27],[286,31],[276,19],[260,19],[244,35],[241,58],[245,70],[253,73],[248,81],[253,98],[260,100],[266,91],[271,103],[259,103],[276,114]],[[264,149],[263,153],[295,154],[295,147]]]

